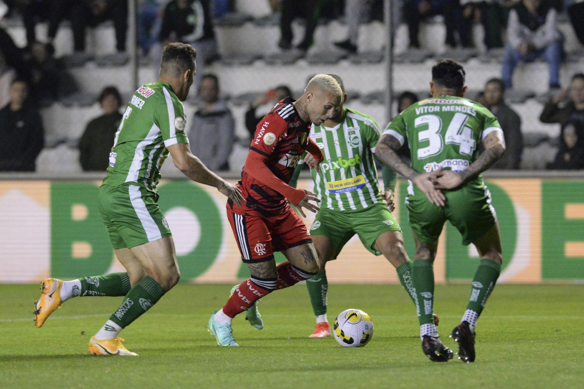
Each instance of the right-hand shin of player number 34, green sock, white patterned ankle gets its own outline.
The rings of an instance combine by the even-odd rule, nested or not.
[[[481,315],[486,300],[495,288],[500,272],[501,265],[497,262],[489,259],[481,260],[481,264],[472,279],[471,297],[461,320],[468,322],[471,331],[474,331],[477,325],[477,318]]]

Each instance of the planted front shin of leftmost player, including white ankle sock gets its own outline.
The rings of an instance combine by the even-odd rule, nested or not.
[[[145,276],[133,286],[116,312],[95,335],[98,340],[116,338],[123,328],[145,313],[164,295],[164,290],[154,278]]]

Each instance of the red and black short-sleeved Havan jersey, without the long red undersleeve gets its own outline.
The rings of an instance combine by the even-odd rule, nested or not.
[[[286,97],[258,123],[253,135],[250,152],[267,158],[266,166],[274,176],[289,183],[298,160],[308,145],[310,123],[304,122],[294,104]],[[245,169],[238,185],[246,199],[246,206],[260,212],[279,212],[286,204],[286,197],[260,183]]]

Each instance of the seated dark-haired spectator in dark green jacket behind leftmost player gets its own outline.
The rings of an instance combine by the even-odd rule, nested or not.
[[[103,115],[91,120],[79,141],[79,162],[85,171],[104,171],[109,164],[117,128],[120,125],[121,96],[115,86],[106,86],[99,96]]]

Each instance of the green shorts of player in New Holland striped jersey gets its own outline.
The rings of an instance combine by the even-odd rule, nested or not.
[[[317,212],[310,234],[328,237],[338,252],[354,234],[358,234],[367,250],[375,255],[381,255],[375,249],[375,241],[381,234],[388,231],[401,232],[401,229],[387,206],[377,203],[359,211],[335,211],[322,208]]]

